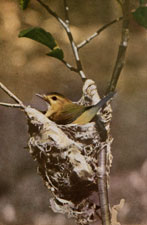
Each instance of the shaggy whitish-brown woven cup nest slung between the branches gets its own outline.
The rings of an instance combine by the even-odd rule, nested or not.
[[[96,85],[86,80],[79,104],[96,104],[100,100]],[[74,217],[88,224],[99,216],[98,176],[99,152],[107,152],[108,174],[111,165],[109,135],[111,107],[99,116],[107,132],[101,140],[95,122],[86,125],[57,125],[41,112],[26,107],[30,139],[29,152],[38,162],[38,171],[51,191],[50,207],[54,212]]]

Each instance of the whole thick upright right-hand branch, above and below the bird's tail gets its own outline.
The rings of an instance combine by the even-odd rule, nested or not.
[[[114,70],[112,73],[112,78],[110,84],[107,88],[106,94],[111,91],[114,91],[121,73],[121,70],[124,66],[125,53],[128,45],[129,39],[129,0],[124,0],[121,5],[123,11],[123,24],[122,24],[122,35],[121,42],[118,50],[118,55]],[[109,209],[109,198],[108,198],[108,149],[103,150],[99,153],[99,178],[98,178],[98,190],[99,190],[99,201],[101,206],[101,215],[102,215],[102,225],[111,224],[111,214]]]

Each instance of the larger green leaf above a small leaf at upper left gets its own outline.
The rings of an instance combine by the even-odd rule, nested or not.
[[[22,30],[19,33],[18,37],[30,38],[43,45],[46,45],[52,50],[57,46],[54,37],[49,32],[45,31],[44,29],[40,27],[33,27],[26,30]]]

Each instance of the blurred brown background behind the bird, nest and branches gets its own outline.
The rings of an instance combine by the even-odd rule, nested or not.
[[[61,0],[46,1],[64,18]],[[137,1],[131,1],[131,8]],[[70,0],[71,29],[76,40],[121,15],[116,1]],[[0,1],[0,82],[25,104],[43,109],[35,93],[58,91],[76,101],[81,97],[82,82],[60,61],[45,54],[46,47],[25,38],[20,30],[41,26],[50,31],[65,59],[73,64],[66,34],[57,21],[32,1],[21,11],[17,1]],[[87,77],[96,81],[100,95],[106,90],[115,63],[121,22],[112,25],[80,50]],[[122,224],[147,224],[147,78],[145,29],[131,18],[126,65],[112,103],[114,156],[110,178],[111,205],[121,198],[126,204],[120,213]],[[0,90],[0,101],[12,102]],[[17,109],[0,107],[0,225],[73,224],[48,208],[50,193],[36,174],[36,163],[24,147],[28,135],[26,118]]]

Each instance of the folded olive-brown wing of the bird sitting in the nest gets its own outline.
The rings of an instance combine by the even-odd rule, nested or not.
[[[83,112],[85,111],[85,107],[78,104],[67,104],[65,105],[61,112],[60,116],[56,119],[56,123],[58,124],[69,124],[76,120]]]

